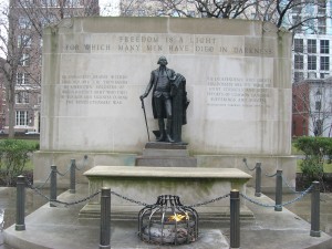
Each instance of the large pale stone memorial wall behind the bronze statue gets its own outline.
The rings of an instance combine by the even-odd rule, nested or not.
[[[188,143],[197,168],[245,170],[246,157],[249,164],[261,162],[266,173],[283,169],[294,180],[290,48],[291,34],[259,21],[75,18],[45,29],[34,180],[43,183],[51,165],[66,169],[71,158],[85,154],[87,169],[134,166],[148,142],[146,123],[149,135],[162,131],[162,141]],[[181,112],[170,111],[166,133],[147,104],[154,94],[144,98],[146,123],[139,104],[162,55],[184,75],[173,81],[169,71],[169,87],[179,96],[173,106],[179,102],[184,111],[185,92],[190,98],[188,125]],[[262,181],[263,188],[273,185]]]

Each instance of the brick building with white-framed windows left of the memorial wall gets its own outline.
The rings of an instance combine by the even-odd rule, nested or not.
[[[40,131],[43,28],[54,25],[66,18],[98,15],[98,0],[10,1],[8,33],[12,37],[8,40],[8,54],[10,54],[8,61],[18,60],[17,64],[11,64],[11,70],[15,72],[11,82],[15,91],[14,132]],[[4,107],[4,122],[7,132],[8,107]]]

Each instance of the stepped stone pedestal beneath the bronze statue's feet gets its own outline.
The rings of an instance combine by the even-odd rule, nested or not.
[[[189,156],[183,143],[149,142],[142,156],[136,157],[136,166],[154,167],[197,167],[197,159]]]

